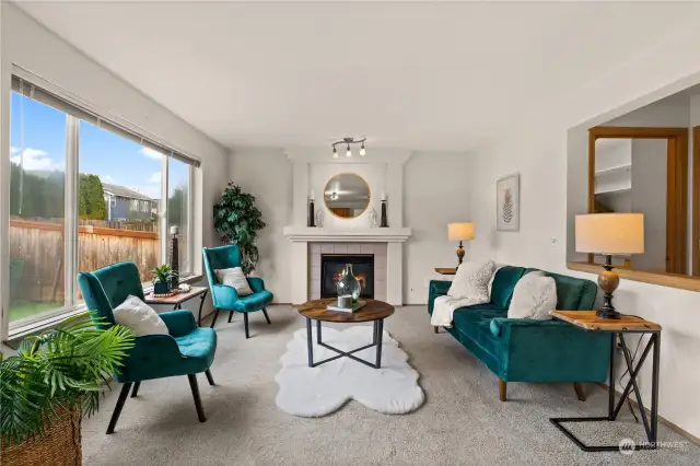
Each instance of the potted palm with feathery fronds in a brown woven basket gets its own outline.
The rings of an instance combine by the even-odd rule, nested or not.
[[[0,457],[8,465],[79,465],[80,422],[100,408],[133,334],[85,312],[0,354]]]

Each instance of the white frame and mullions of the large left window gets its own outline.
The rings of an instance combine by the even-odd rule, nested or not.
[[[89,104],[88,102],[77,97],[75,95],[67,92],[63,89],[60,89],[58,86],[56,86],[52,83],[49,83],[47,81],[45,81],[44,79],[34,75],[33,73],[25,71],[16,66],[12,66],[12,72],[11,72],[12,79],[14,79],[15,77],[22,81],[24,81],[25,83],[30,84],[31,86],[34,86],[38,90],[40,90],[40,92],[47,93],[51,96],[55,96],[57,98],[57,101],[62,102],[65,105],[67,106],[72,106],[74,107],[74,109],[77,110],[78,114],[84,114],[84,115],[92,115],[95,116],[97,118],[97,121],[104,121],[107,123],[107,127],[104,127],[104,129],[106,129],[107,131],[110,131],[112,128],[116,128],[116,131],[110,131],[113,133],[116,133],[117,136],[121,136],[125,137],[122,132],[129,132],[131,135],[131,140],[133,140],[135,138],[140,138],[140,142],[142,145],[147,145],[148,147],[152,147],[152,145],[158,145],[160,148],[167,148],[170,147],[170,144],[167,143],[163,143],[160,138],[155,138],[153,136],[149,136],[150,132],[138,127],[135,126],[131,123],[128,123],[119,117],[116,117],[114,115],[110,115],[107,112],[102,112],[96,109],[93,105]],[[15,93],[16,91],[14,91],[12,89],[12,85],[10,85],[9,89],[9,93],[8,95],[5,95],[4,97],[8,98],[13,95],[13,93]],[[32,91],[33,92],[33,91]],[[27,98],[32,98],[32,92],[30,92],[28,95],[25,94],[25,97]],[[60,112],[63,112],[66,114],[66,185],[65,185],[65,235],[66,235],[66,242],[63,244],[65,247],[65,265],[63,265],[63,287],[65,287],[65,302],[63,302],[63,306],[60,307],[56,307],[55,310],[50,310],[47,311],[45,313],[38,314],[36,316],[31,316],[31,317],[26,317],[23,319],[19,319],[19,321],[14,321],[14,322],[10,322],[10,314],[9,314],[9,310],[10,310],[10,298],[9,298],[9,292],[8,290],[2,290],[1,292],[1,298],[0,298],[0,305],[1,305],[1,315],[0,315],[0,339],[2,341],[7,341],[7,340],[11,340],[11,339],[15,339],[15,338],[20,338],[24,335],[30,335],[32,333],[38,331],[40,329],[50,327],[52,325],[56,325],[58,322],[78,313],[78,312],[82,312],[86,308],[85,304],[82,302],[78,301],[78,282],[75,280],[75,277],[78,276],[78,270],[79,270],[79,251],[78,251],[78,244],[79,244],[79,164],[80,164],[80,123],[82,120],[85,120],[88,123],[93,124],[93,121],[91,121],[90,119],[84,119],[84,118],[79,118],[77,116],[73,115],[73,112],[66,112],[65,108],[61,108],[60,106],[54,106],[50,105],[49,103],[43,102],[42,100],[36,100],[35,101],[50,106],[52,108],[56,108]],[[8,105],[9,108],[9,105]],[[8,110],[8,117],[9,115]],[[8,132],[9,136],[9,132]],[[7,147],[10,147],[10,140],[8,137],[7,141],[3,141],[3,143],[7,142]],[[174,155],[176,153],[176,155]],[[168,155],[170,154],[170,155]],[[183,277],[183,281],[187,281],[188,279],[192,279],[196,278],[200,275],[200,272],[194,270],[194,266],[192,266],[192,256],[191,256],[191,252],[195,251],[195,245],[192,244],[194,242],[194,235],[190,233],[190,229],[194,228],[194,211],[192,211],[192,196],[191,196],[191,189],[195,188],[194,185],[194,180],[195,177],[192,176],[195,168],[200,166],[200,161],[197,158],[190,156],[190,155],[185,155],[183,154],[182,151],[173,151],[173,150],[168,150],[168,151],[164,151],[164,156],[163,156],[163,166],[164,170],[161,172],[161,177],[162,177],[162,187],[163,187],[163,191],[167,193],[167,178],[168,178],[168,172],[167,172],[167,161],[170,159],[170,156],[174,156],[177,160],[187,163],[189,166],[189,186],[188,186],[188,210],[187,210],[187,226],[188,226],[188,241],[187,241],[187,251],[188,251],[188,259],[190,260],[190,271],[187,276]],[[3,156],[2,161],[0,161],[0,173],[2,173],[3,179],[5,176],[9,176],[9,172],[10,172],[10,158],[9,156]],[[9,177],[8,177],[9,180]],[[8,193],[9,194],[9,186],[8,186]],[[163,198],[162,198],[163,199]],[[165,201],[162,202],[164,203],[165,208],[167,207],[167,197],[164,198]],[[117,197],[116,196],[110,196],[110,205],[112,207],[116,207],[116,200]],[[141,211],[141,206],[140,203],[143,202],[145,210],[148,210],[149,212],[151,212],[153,202],[150,201],[138,201],[138,209],[137,212]],[[167,232],[165,231],[168,225],[167,225],[167,215],[166,215],[166,211],[165,209],[163,209],[160,212],[161,220],[164,220],[161,222],[161,231],[159,233],[160,234],[160,246],[161,246],[161,252],[163,253],[161,256],[161,260],[165,260],[165,258],[167,257],[167,246],[168,246],[168,235]],[[2,218],[2,221],[0,223],[0,236],[2,237],[9,237],[9,229],[10,229],[10,222],[9,222],[10,218],[9,218],[9,212],[8,215]],[[165,234],[163,234],[165,233]],[[9,263],[10,263],[10,253],[9,253],[9,248],[2,249],[3,251],[3,257],[1,260],[1,265],[0,267],[3,267],[3,269],[7,269],[9,267]],[[3,272],[0,272],[0,276],[4,275],[4,270]],[[8,282],[7,280],[3,280],[2,283],[0,283],[0,289],[4,289],[5,287],[8,287]],[[144,291],[150,291],[150,289],[152,288],[150,282],[145,282],[143,283],[143,288]]]

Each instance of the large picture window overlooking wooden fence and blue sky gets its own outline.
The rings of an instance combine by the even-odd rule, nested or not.
[[[80,271],[128,260],[148,284],[173,225],[192,272],[197,161],[16,77],[10,112],[11,329],[77,310]]]

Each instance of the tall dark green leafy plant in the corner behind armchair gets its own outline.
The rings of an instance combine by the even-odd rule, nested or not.
[[[214,205],[214,229],[222,233],[223,242],[241,247],[241,268],[245,275],[258,265],[260,254],[255,240],[265,226],[262,213],[255,206],[255,196],[243,193],[241,186],[229,182],[221,200]]]

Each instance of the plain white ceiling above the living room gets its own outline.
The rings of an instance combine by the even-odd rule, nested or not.
[[[229,145],[467,150],[685,27],[699,4],[23,2]],[[692,13],[692,14],[691,14]]]

